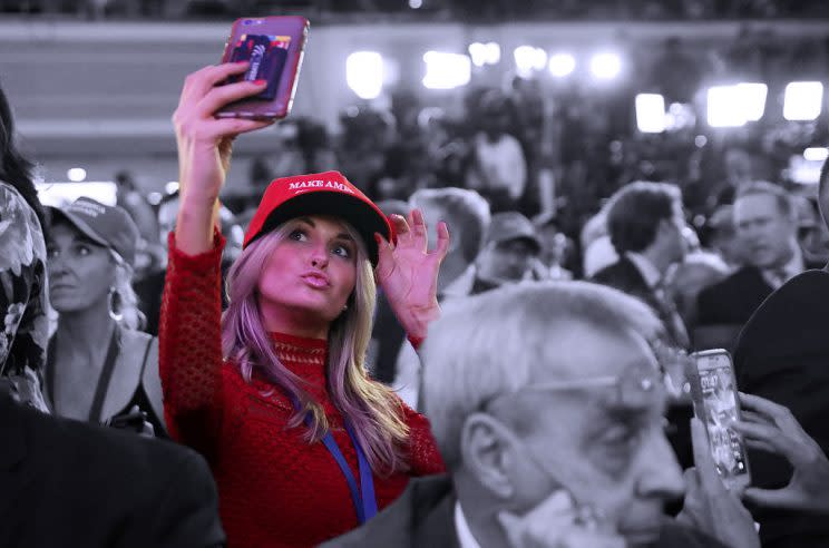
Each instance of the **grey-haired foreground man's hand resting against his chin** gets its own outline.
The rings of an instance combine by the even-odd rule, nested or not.
[[[554,491],[524,516],[498,513],[511,548],[624,548],[615,528],[565,490]]]

